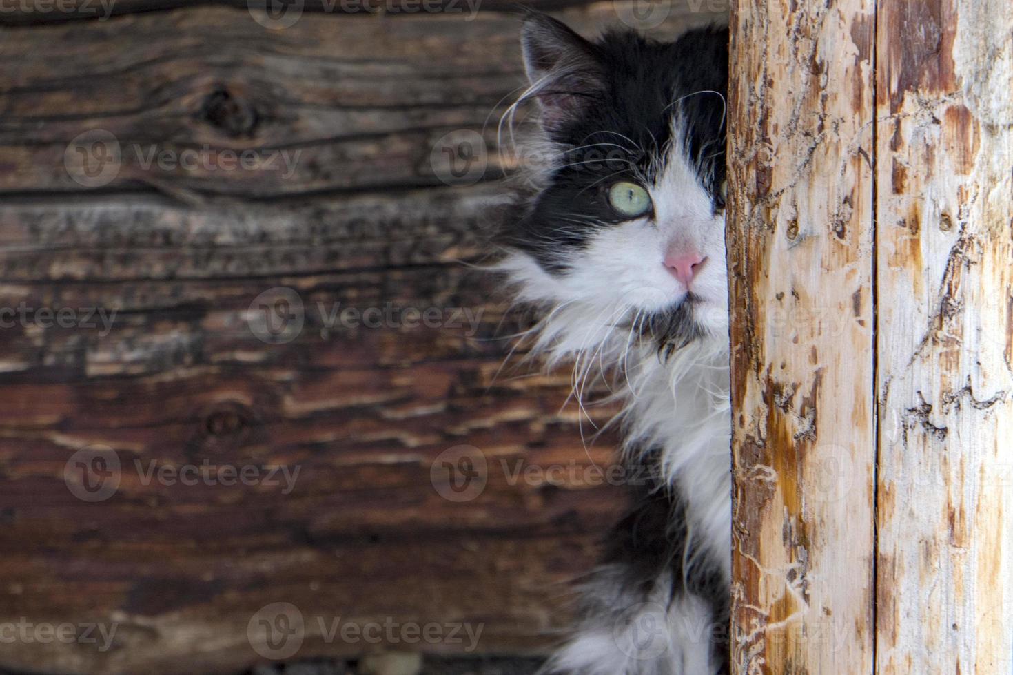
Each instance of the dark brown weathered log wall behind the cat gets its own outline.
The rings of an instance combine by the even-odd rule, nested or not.
[[[464,621],[484,626],[479,652],[543,651],[622,508],[585,473],[612,439],[586,450],[568,373],[496,376],[520,320],[465,263],[504,186],[431,162],[446,134],[484,133],[474,178],[501,176],[489,130],[522,81],[519,19],[317,12],[267,30],[241,5],[127,11],[149,5],[0,28],[0,310],[24,308],[0,316],[0,624],[116,626],[101,651],[0,642],[0,666],[234,672],[264,660],[247,628],[274,602],[309,625]],[[674,5],[657,30],[710,18]],[[122,161],[86,184],[66,158],[96,130]],[[145,166],[152,150],[215,161]],[[223,170],[226,151],[299,155],[291,172]],[[289,341],[251,328],[272,288],[302,303]],[[388,307],[377,327],[334,314]],[[47,318],[62,309],[69,324]],[[430,326],[401,314],[428,309]],[[487,484],[458,503],[431,469],[462,443]],[[65,478],[93,447],[121,461],[100,502],[71,492],[73,463]],[[152,462],[300,473],[283,494],[151,480]],[[465,646],[307,629],[295,658]]]

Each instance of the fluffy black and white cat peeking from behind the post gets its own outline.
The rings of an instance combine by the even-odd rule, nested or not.
[[[532,13],[523,49],[550,161],[508,219],[498,265],[544,311],[550,365],[623,402],[624,461],[647,467],[607,539],[582,619],[546,672],[727,671],[730,413],[724,247],[728,31],[589,41]],[[577,391],[579,394],[579,391]],[[630,472],[642,476],[642,472]]]

